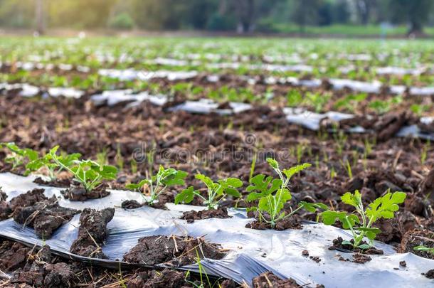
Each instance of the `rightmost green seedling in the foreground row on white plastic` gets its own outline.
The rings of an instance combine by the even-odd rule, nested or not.
[[[342,227],[351,230],[351,234],[353,235],[354,243],[349,241],[345,243],[361,249],[367,249],[372,245],[376,235],[381,233],[379,228],[371,226],[376,220],[381,218],[391,219],[395,217],[395,212],[399,210],[398,204],[403,203],[405,199],[406,193],[391,193],[389,191],[386,195],[376,198],[374,202],[364,209],[359,191],[356,190],[354,193],[347,192],[341,197],[341,200],[343,203],[356,208],[354,213],[327,210],[321,214],[322,222],[326,225],[333,225],[339,220],[342,223]],[[369,239],[369,245],[361,245],[364,237]]]

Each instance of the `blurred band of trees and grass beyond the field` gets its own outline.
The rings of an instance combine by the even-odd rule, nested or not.
[[[433,0],[0,0],[1,33],[433,37]],[[179,33],[179,32],[176,32]]]

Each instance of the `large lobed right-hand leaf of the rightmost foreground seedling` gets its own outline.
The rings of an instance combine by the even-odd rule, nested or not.
[[[403,203],[406,196],[403,192],[386,193],[385,196],[376,198],[373,203],[369,204],[369,208],[366,208],[366,215],[372,223],[380,218],[393,218],[395,212],[399,210],[398,204]]]

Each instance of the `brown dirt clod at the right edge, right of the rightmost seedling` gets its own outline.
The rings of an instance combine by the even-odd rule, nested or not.
[[[434,247],[434,232],[430,230],[411,230],[408,231],[401,241],[401,245],[398,247],[399,253],[411,252],[420,257],[428,259],[434,259],[433,253],[429,251],[416,251],[413,248],[423,245],[428,248]]]

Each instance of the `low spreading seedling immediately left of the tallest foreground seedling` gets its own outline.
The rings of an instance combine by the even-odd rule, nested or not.
[[[202,196],[199,191],[194,190],[193,186],[189,186],[189,188],[184,189],[181,193],[176,195],[175,204],[181,202],[190,203],[193,201],[194,196],[198,196],[203,199],[203,203],[208,209],[216,209],[220,201],[226,198],[226,196],[231,195],[235,198],[241,196],[237,188],[243,186],[243,181],[240,181],[238,178],[220,179],[217,182],[214,182],[211,178],[203,174],[196,174],[195,178],[202,181],[206,188],[208,188],[208,198]]]

